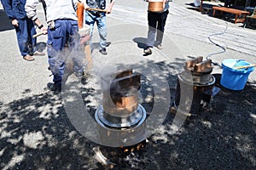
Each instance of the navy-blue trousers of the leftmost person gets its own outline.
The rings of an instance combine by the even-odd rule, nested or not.
[[[32,54],[33,48],[36,47],[37,39],[32,38],[36,34],[36,29],[32,20],[18,19],[19,26],[15,26],[17,41],[20,48],[20,54],[24,57],[27,54]]]

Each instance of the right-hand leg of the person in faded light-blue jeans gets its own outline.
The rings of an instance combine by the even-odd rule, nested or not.
[[[100,50],[106,50],[107,45],[107,23],[106,14],[102,13],[96,18],[96,24],[100,35]]]

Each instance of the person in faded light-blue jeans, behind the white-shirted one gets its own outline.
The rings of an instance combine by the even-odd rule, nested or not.
[[[83,2],[83,1],[82,1]],[[107,55],[107,22],[106,13],[110,14],[113,8],[114,0],[110,0],[108,8],[106,8],[106,0],[84,0],[85,24],[90,26],[90,37],[92,37],[93,28],[96,23],[100,36],[100,49],[99,52],[103,55]],[[96,10],[88,10],[90,8],[97,8],[105,10],[106,12],[100,12]]]

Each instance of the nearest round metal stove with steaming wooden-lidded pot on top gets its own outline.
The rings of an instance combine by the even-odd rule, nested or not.
[[[139,104],[140,74],[119,71],[101,81],[102,105],[95,114],[99,143],[123,148],[143,142],[147,113]]]

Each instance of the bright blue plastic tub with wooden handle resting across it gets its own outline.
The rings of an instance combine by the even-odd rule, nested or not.
[[[249,74],[254,67],[238,69],[234,67],[242,65],[251,65],[243,59],[224,59],[222,62],[223,72],[220,78],[220,84],[230,90],[242,90],[247,82]]]

